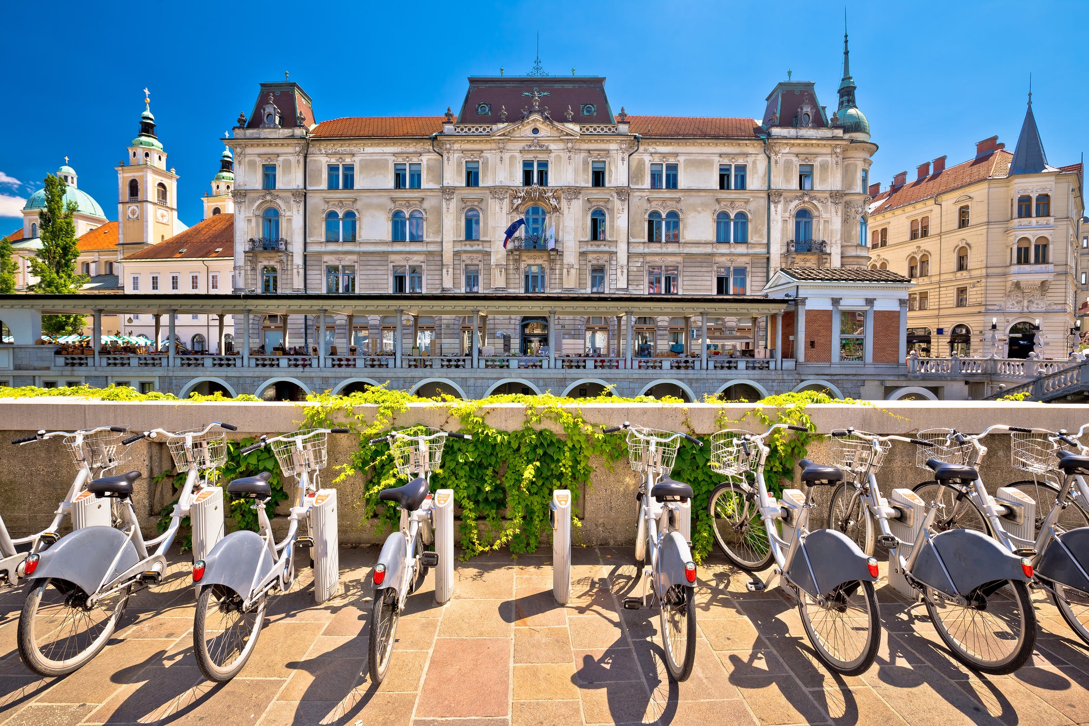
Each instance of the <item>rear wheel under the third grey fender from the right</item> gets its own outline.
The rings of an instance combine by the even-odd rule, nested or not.
[[[881,619],[873,583],[844,582],[823,604],[805,592],[798,614],[817,657],[845,676],[857,676],[873,665],[881,643]]]

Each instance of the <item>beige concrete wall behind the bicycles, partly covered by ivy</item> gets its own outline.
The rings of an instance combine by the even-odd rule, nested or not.
[[[659,429],[710,434],[721,428],[715,420],[724,414],[729,419],[738,421],[731,423],[731,428],[763,430],[762,424],[749,415],[754,407],[746,404],[592,404],[577,408],[586,420],[602,426],[632,421]],[[525,410],[518,405],[491,406],[486,410],[487,421],[497,429],[513,430],[525,420]],[[876,402],[873,406],[825,404],[810,406],[808,413],[821,432],[854,426],[885,434],[909,434],[937,427],[975,432],[992,423],[1077,431],[1089,421],[1089,407],[1084,405],[992,402]],[[59,439],[24,446],[7,443],[38,429],[71,431],[127,423],[132,431],[155,427],[181,430],[204,427],[218,420],[237,426],[238,431],[232,435],[244,438],[293,431],[302,419],[303,410],[295,404],[0,399],[0,515],[13,537],[39,531],[49,524],[51,513],[75,475],[75,464]],[[409,410],[397,417],[395,423],[453,427],[456,419],[441,405],[413,404]],[[992,435],[986,444],[990,451],[982,475],[989,489],[1026,478],[1023,472],[1010,468],[1007,435]],[[356,445],[353,436],[330,438],[330,468],[322,472],[326,481],[332,480],[335,476],[333,467],[346,462]],[[915,450],[911,444],[893,445],[879,475],[883,490],[888,492],[895,487],[911,487],[930,478],[927,471],[916,467]],[[809,455],[817,460],[827,459],[827,445],[815,442]],[[616,463],[612,470],[600,460],[594,462],[594,466],[592,484],[583,492],[579,503],[584,522],[579,537],[587,544],[626,544],[634,537],[637,479],[623,462]],[[146,440],[137,442],[132,447],[127,468],[145,475],[136,484],[134,503],[145,534],[151,536],[159,512],[172,496],[169,482],[150,483],[151,477],[172,468],[166,445]],[[356,475],[337,485],[342,503],[341,542],[345,544],[375,543],[384,537],[376,530],[372,521],[363,520],[358,509],[353,507],[353,503],[359,501],[364,483],[363,477]],[[556,482],[556,488],[564,484]]]

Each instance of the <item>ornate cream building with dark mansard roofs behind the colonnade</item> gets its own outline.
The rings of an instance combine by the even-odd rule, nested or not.
[[[629,115],[614,112],[604,81],[475,76],[457,113],[329,121],[297,84],[261,84],[224,139],[236,291],[739,296],[784,267],[866,267],[877,146],[846,36],[831,114],[813,83],[787,79],[760,118]],[[326,337],[390,352],[394,322],[342,318]],[[470,319],[411,324],[406,349],[469,345]],[[616,318],[502,318],[484,322],[484,345],[537,353],[550,324],[561,354],[608,355],[623,336]],[[695,311],[634,324],[641,355],[692,355],[700,340]],[[254,333],[305,345],[314,325],[266,321]],[[751,318],[712,320],[707,333],[717,353],[772,347]]]

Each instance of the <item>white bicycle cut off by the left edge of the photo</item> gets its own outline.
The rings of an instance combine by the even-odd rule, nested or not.
[[[85,502],[93,494],[84,494],[84,485],[95,478],[120,466],[125,460],[127,446],[121,443],[121,436],[129,431],[127,426],[100,426],[95,429],[78,431],[38,431],[29,436],[14,439],[11,443],[25,445],[34,441],[45,441],[57,436],[64,438],[68,447],[78,469],[75,479],[69,487],[64,500],[53,513],[49,527],[30,534],[12,539],[8,528],[0,517],[0,587],[17,586],[23,581],[24,567],[28,554],[37,554],[60,539],[58,530],[65,517],[72,518],[72,529],[82,529],[93,525],[109,526],[113,520],[113,507]],[[76,514],[73,515],[73,512]],[[37,561],[35,561],[37,562]],[[35,567],[36,565],[32,565]],[[33,570],[32,570],[33,574]]]

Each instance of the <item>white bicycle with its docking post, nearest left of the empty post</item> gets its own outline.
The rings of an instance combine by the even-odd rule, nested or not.
[[[375,565],[375,601],[371,605],[370,642],[367,661],[370,680],[382,682],[390,667],[397,620],[408,595],[424,583],[427,570],[436,568],[435,600],[440,605],[453,591],[454,575],[454,492],[440,489],[431,495],[431,472],[442,464],[446,436],[472,439],[465,433],[413,427],[409,435],[391,431],[371,439],[370,444],[389,442],[397,471],[409,481],[404,487],[378,493],[383,502],[393,502],[401,510],[401,526],[386,538]],[[427,547],[432,549],[428,550]]]

